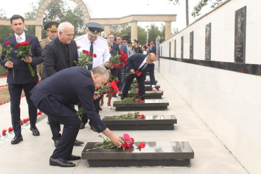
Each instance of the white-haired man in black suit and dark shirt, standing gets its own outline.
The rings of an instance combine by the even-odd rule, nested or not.
[[[58,71],[65,68],[75,66],[74,61],[78,61],[77,46],[73,40],[74,26],[69,22],[63,22],[58,26],[58,37],[49,42],[42,52],[44,59],[44,70],[42,72],[42,80],[52,76]],[[56,146],[61,139],[61,125],[58,120],[48,117],[49,125],[52,130],[52,139]],[[75,141],[75,145],[83,144],[84,142]]]

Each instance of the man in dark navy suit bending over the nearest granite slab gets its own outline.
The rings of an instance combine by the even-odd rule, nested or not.
[[[49,159],[50,166],[74,167],[75,164],[70,161],[81,159],[72,155],[74,141],[81,125],[72,104],[78,102],[97,132],[105,134],[117,146],[124,143],[106,128],[93,104],[93,98],[100,96],[94,95],[95,90],[102,88],[108,79],[109,73],[104,67],[97,66],[90,71],[84,67],[72,67],[57,72],[31,90],[31,100],[35,106],[64,125],[63,135]]]

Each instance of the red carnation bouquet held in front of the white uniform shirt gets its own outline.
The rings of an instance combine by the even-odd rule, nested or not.
[[[91,64],[93,64],[93,58],[96,58],[96,54],[93,54],[92,52],[88,52],[86,50],[83,50],[80,53],[79,56],[79,61],[74,61],[74,63],[77,66],[81,66],[81,67],[85,67],[87,68],[88,66],[90,66]]]

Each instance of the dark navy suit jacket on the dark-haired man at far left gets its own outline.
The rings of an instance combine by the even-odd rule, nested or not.
[[[33,59],[33,63],[31,63],[33,71],[35,72],[35,76],[32,77],[30,74],[30,70],[28,64],[21,60],[21,56],[17,57],[17,53],[15,51],[18,49],[15,47],[17,45],[17,40],[15,35],[11,35],[8,38],[3,40],[3,47],[6,47],[6,41],[10,41],[10,47],[12,47],[11,51],[11,60],[13,62],[13,68],[6,68],[6,61],[4,60],[6,52],[2,52],[1,54],[1,65],[8,69],[8,77],[7,83],[8,84],[30,84],[38,81],[38,75],[36,73],[36,65],[42,63],[42,49],[40,47],[40,43],[38,38],[35,35],[31,35],[25,33],[26,41],[30,42],[31,45],[31,52]],[[13,77],[13,69],[15,72],[15,77]]]

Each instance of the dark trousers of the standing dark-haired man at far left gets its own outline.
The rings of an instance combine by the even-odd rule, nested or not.
[[[30,91],[37,84],[37,82],[30,84],[8,84],[8,90],[10,93],[10,111],[12,117],[12,125],[15,132],[15,135],[21,134],[21,124],[20,124],[20,102],[22,89],[24,89],[24,94],[26,96],[26,102],[28,104],[28,112],[31,127],[35,127],[37,120],[37,108],[34,106],[31,101]]]

